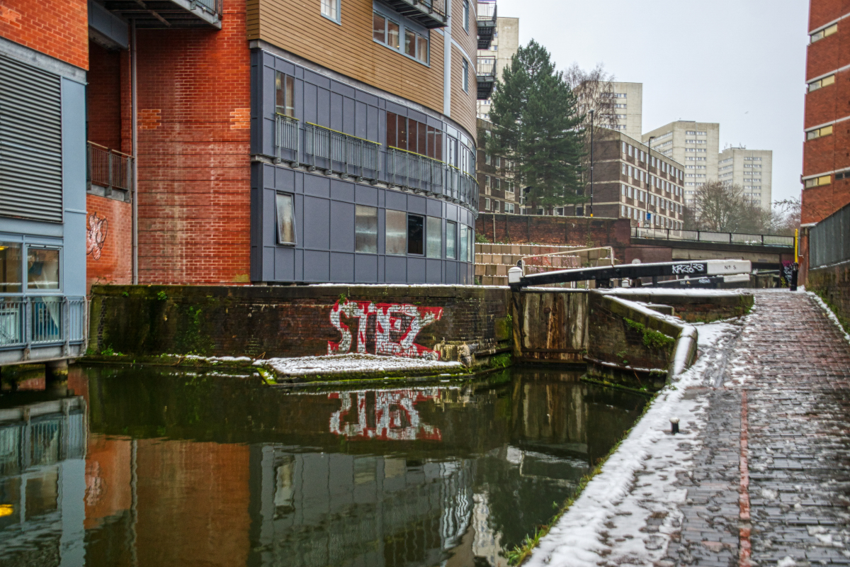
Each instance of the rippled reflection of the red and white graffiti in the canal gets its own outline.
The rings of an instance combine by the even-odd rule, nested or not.
[[[443,439],[439,428],[422,423],[414,405],[438,400],[439,388],[332,392],[342,407],[331,415],[331,433],[349,438],[413,441]]]

